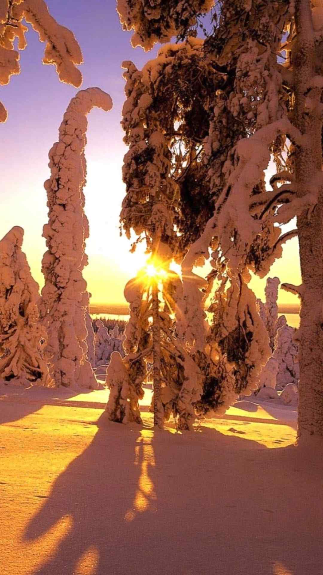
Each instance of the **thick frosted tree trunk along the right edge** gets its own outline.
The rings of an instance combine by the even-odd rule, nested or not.
[[[321,91],[312,90],[312,104],[306,106],[307,82],[316,74],[315,46],[310,0],[297,0],[295,6],[297,43],[293,50],[295,85],[295,124],[303,144],[295,157],[298,197],[310,192],[309,183],[321,173],[322,122],[316,105]],[[307,108],[307,109],[306,109]],[[302,272],[301,324],[299,327],[299,405],[298,440],[306,435],[323,436],[323,194],[312,216],[304,210],[297,219]]]

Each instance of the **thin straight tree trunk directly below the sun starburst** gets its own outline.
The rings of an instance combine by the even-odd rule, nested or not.
[[[164,413],[161,404],[160,382],[160,325],[159,325],[159,300],[158,284],[154,280],[152,284],[152,336],[153,336],[153,424],[163,427]]]

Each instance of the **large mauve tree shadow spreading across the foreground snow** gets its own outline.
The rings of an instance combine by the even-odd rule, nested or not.
[[[31,541],[71,519],[33,575],[83,573],[90,549],[91,575],[319,575],[319,459],[215,430],[122,426],[103,414],[26,527]]]

